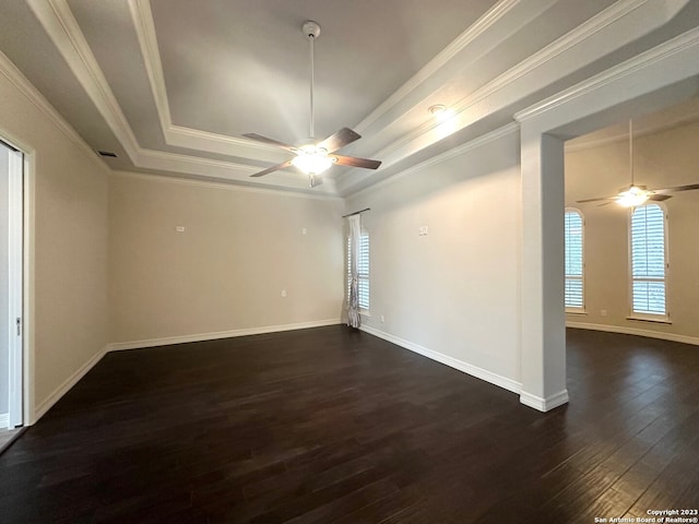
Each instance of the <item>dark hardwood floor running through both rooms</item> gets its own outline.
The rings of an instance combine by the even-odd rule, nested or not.
[[[699,347],[569,330],[570,404],[344,326],[108,354],[0,455],[3,523],[593,523],[699,508]]]

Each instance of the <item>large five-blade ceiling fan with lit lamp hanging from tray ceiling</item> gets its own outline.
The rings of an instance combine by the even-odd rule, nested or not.
[[[316,142],[313,138],[313,41],[320,35],[320,25],[313,21],[306,21],[301,26],[301,31],[306,38],[310,43],[310,139],[305,144],[299,146],[288,145],[283,142],[279,142],[266,136],[261,136],[256,133],[247,133],[244,136],[263,142],[270,145],[276,145],[283,150],[293,153],[294,156],[287,162],[279,164],[276,166],[269,167],[260,172],[250,175],[251,177],[263,177],[270,172],[279,169],[285,169],[289,166],[295,166],[309,177],[310,187],[318,186],[322,182],[318,175],[328,170],[333,164],[351,167],[363,167],[365,169],[377,169],[380,165],[380,160],[370,160],[368,158],[357,158],[354,156],[342,156],[335,154],[335,152],[352,142],[359,140],[362,136],[350,128],[342,128],[336,133],[328,136],[325,140]]]

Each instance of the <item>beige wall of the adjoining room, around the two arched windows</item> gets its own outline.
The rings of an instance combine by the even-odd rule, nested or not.
[[[699,123],[633,140],[636,183],[664,188],[699,182]],[[585,217],[587,314],[569,322],[661,332],[699,343],[699,191],[676,193],[667,210],[667,308],[672,325],[627,320],[629,314],[629,212],[616,204],[574,204],[576,200],[616,194],[630,183],[628,141],[568,152],[566,202]],[[602,317],[601,311],[607,315]],[[689,342],[689,341],[687,341]]]

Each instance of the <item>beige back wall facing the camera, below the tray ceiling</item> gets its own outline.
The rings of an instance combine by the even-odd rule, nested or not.
[[[129,174],[109,199],[111,342],[340,320],[341,200]]]

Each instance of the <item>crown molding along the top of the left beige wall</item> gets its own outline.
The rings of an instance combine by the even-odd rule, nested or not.
[[[24,76],[22,71],[12,63],[12,61],[0,51],[0,73],[7,78],[14,87],[24,95],[34,106],[42,111],[48,120],[58,128],[71,142],[80,147],[83,153],[100,169],[109,169],[109,166],[93,151],[93,148],[78,134],[78,132],[66,121],[63,117],[56,110],[46,97],[34,87],[34,85]],[[20,144],[21,146],[24,144]],[[28,145],[28,144],[27,144]],[[29,145],[31,146],[31,145]],[[31,146],[33,147],[33,146]],[[25,151],[26,152],[26,151]]]

